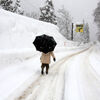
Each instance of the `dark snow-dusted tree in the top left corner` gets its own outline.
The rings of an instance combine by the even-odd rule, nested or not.
[[[12,3],[12,0],[0,0],[0,6],[7,11],[13,11]]]

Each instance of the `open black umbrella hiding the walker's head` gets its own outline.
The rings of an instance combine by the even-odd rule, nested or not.
[[[52,36],[48,36],[45,34],[37,36],[33,44],[35,45],[36,50],[44,53],[53,51],[55,46],[57,45],[56,41]]]

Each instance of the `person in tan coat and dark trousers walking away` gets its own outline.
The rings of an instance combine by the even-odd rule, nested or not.
[[[41,60],[41,74],[44,74],[44,68],[46,67],[46,74],[48,74],[48,70],[49,70],[49,64],[51,62],[51,56],[53,58],[54,61],[56,61],[56,58],[54,56],[53,51],[52,52],[48,52],[48,53],[43,53],[40,57]]]

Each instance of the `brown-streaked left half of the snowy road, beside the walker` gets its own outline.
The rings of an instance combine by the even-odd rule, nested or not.
[[[71,57],[85,52],[88,49],[71,54],[55,63],[48,75],[40,76],[15,100],[63,100],[65,86],[64,74],[66,69],[64,64]],[[58,94],[59,97],[57,97]]]

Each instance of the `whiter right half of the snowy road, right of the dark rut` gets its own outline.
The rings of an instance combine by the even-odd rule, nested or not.
[[[91,52],[93,48],[69,60],[63,100],[100,100],[100,77],[89,62]]]

